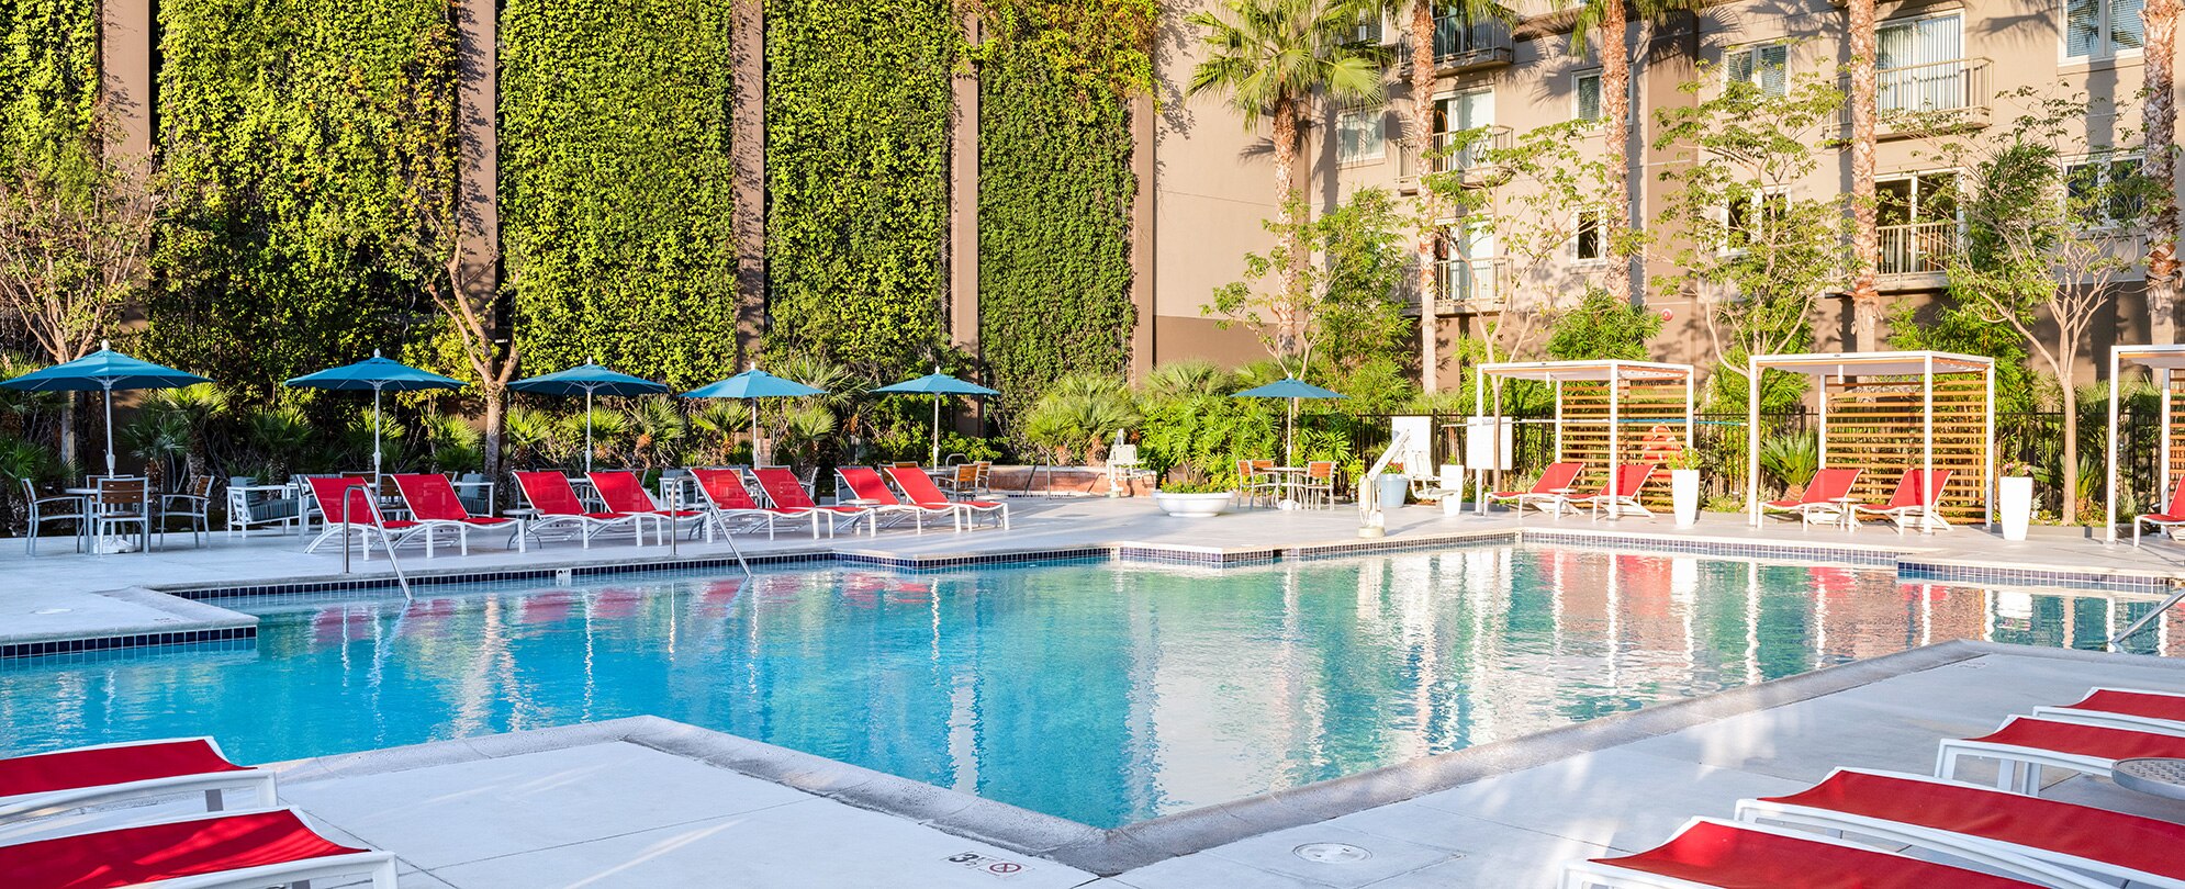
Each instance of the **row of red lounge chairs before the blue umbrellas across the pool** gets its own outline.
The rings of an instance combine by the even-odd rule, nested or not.
[[[979,520],[1009,526],[1007,505],[950,500],[920,467],[841,467],[837,470],[839,489],[850,491],[852,498],[835,505],[815,502],[804,483],[787,467],[749,472],[767,500],[765,505],[752,496],[743,470],[690,470],[701,502],[688,507],[660,505],[636,472],[590,472],[588,481],[605,509],[588,507],[568,476],[559,472],[516,472],[516,487],[524,496],[520,518],[472,513],[457,498],[454,485],[437,474],[387,476],[411,518],[382,518],[365,487],[367,478],[310,478],[310,496],[326,515],[326,533],[312,540],[306,550],[334,540],[350,546],[356,540],[369,557],[374,542],[387,548],[422,542],[426,557],[433,557],[435,546],[452,542],[463,555],[470,555],[470,533],[479,529],[505,529],[522,548],[546,537],[572,537],[590,548],[594,537],[616,533],[627,533],[642,546],[647,531],[656,544],[666,544],[671,533],[690,533],[693,537],[704,533],[706,540],[714,540],[714,535],[760,529],[771,540],[784,526],[808,526],[813,537],[819,537],[822,529],[832,537],[841,529],[878,533],[905,522],[924,533],[926,520],[948,520],[957,531]]]

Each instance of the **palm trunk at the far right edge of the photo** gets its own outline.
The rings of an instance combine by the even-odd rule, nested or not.
[[[2148,177],[2148,332],[2154,343],[2176,343],[2178,297],[2178,201],[2176,201],[2176,52],[2178,0],[2146,0],[2139,9],[2146,24],[2146,155],[2139,173]]]

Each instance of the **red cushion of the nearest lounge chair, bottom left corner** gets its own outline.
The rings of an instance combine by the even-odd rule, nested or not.
[[[0,845],[0,874],[13,889],[111,889],[356,852],[277,810]]]

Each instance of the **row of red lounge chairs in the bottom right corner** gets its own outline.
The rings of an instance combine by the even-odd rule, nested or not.
[[[1838,769],[1654,850],[1569,863],[1560,885],[2185,889],[2185,823],[2039,797],[2041,769],[2109,778],[2133,758],[2185,758],[2185,695],[2095,688],[1945,740],[1934,778]],[[1993,760],[1995,786],[1960,782],[1966,760]]]

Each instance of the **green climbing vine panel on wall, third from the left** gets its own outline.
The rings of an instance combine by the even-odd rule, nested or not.
[[[509,0],[500,221],[524,371],[734,374],[728,0]]]

